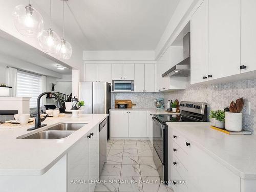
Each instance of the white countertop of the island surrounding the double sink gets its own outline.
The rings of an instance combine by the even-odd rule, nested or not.
[[[81,114],[78,118],[71,118],[71,114],[65,114],[63,117],[46,119],[43,123],[47,126],[34,131],[27,131],[34,125],[22,127],[0,125],[0,175],[31,176],[46,173],[67,154],[70,147],[106,117],[108,114]],[[61,122],[88,124],[62,139],[17,139],[19,136],[46,130],[49,126]]]

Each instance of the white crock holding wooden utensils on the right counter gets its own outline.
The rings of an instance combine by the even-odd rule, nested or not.
[[[225,129],[240,132],[242,130],[242,113],[225,112]]]

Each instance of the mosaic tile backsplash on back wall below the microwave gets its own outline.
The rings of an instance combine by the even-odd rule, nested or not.
[[[163,98],[163,93],[111,93],[111,107],[115,108],[116,99],[131,99],[133,108],[155,108],[156,98]]]

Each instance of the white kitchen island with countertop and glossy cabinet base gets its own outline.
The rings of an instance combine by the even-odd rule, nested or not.
[[[90,168],[97,170],[97,173],[93,174],[93,179],[97,179],[99,123],[106,117],[108,114],[81,114],[79,118],[71,118],[70,114],[61,114],[61,117],[57,118],[48,117],[44,121],[47,126],[34,131],[27,131],[34,125],[20,127],[1,125],[1,191],[66,191],[67,187],[69,188],[68,180],[90,179],[87,177],[90,173],[86,173]],[[17,139],[67,122],[87,124],[61,139]],[[87,136],[91,132],[94,132],[94,135],[90,139]],[[93,160],[90,163],[90,155],[93,156],[94,163]],[[84,158],[83,161],[82,158]],[[78,169],[75,170],[77,167]],[[74,177],[71,178],[71,176]],[[38,184],[41,187],[36,187]],[[79,187],[78,185],[72,186]],[[75,189],[70,188],[68,191],[73,190]]]

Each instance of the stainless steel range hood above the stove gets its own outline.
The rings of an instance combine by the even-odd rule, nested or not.
[[[162,77],[188,77],[190,75],[190,33],[183,37],[183,58],[174,67],[162,74]]]

